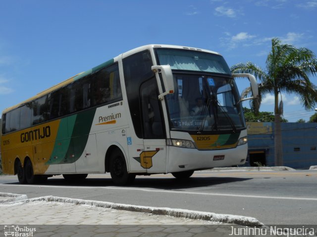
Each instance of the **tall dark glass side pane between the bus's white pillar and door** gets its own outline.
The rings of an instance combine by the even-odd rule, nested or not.
[[[124,82],[127,91],[130,114],[134,131],[139,138],[142,133],[142,115],[140,110],[140,86],[142,82],[154,78],[151,70],[153,65],[151,54],[148,50],[133,54],[123,59]]]

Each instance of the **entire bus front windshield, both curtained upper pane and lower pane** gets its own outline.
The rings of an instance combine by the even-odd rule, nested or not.
[[[245,129],[237,86],[221,55],[157,48],[157,56],[160,65],[168,64],[173,71],[175,93],[166,95],[172,129]]]

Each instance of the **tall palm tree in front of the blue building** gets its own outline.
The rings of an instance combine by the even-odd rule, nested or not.
[[[252,62],[238,63],[231,67],[232,73],[250,73],[260,80],[259,99],[251,101],[251,108],[257,113],[262,96],[274,94],[274,160],[275,166],[283,165],[283,149],[281,134],[281,115],[283,102],[279,94],[296,94],[306,110],[311,110],[317,103],[317,86],[309,77],[317,75],[317,60],[315,54],[308,48],[296,48],[290,44],[282,44],[277,38],[272,39],[272,48],[266,59],[266,69],[263,70]],[[251,88],[246,88],[241,96],[248,97]]]

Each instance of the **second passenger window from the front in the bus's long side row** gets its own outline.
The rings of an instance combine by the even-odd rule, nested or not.
[[[91,82],[90,78],[80,79],[67,86],[69,98],[69,113],[90,107]]]

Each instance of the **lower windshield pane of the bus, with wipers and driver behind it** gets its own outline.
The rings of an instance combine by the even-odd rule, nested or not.
[[[245,128],[234,79],[174,74],[175,93],[166,95],[173,129],[196,131]]]

